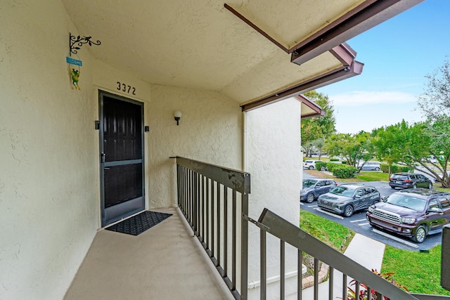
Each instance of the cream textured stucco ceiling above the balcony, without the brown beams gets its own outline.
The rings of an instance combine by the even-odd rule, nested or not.
[[[153,84],[218,91],[239,104],[342,65],[329,52],[302,65],[291,63],[290,54],[224,8],[222,1],[62,1],[77,34],[101,41],[101,46],[89,48],[99,60]],[[226,4],[290,48],[363,2],[227,0]]]

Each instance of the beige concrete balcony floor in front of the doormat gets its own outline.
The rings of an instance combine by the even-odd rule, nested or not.
[[[140,235],[99,230],[65,300],[233,299],[179,209]]]

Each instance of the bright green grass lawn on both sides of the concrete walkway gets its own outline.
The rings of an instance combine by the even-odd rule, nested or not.
[[[354,232],[309,211],[300,212],[300,228],[334,249],[344,252]],[[342,246],[342,247],[341,247]],[[440,284],[441,246],[429,253],[386,246],[381,273],[394,273],[395,282],[415,294],[449,295]]]

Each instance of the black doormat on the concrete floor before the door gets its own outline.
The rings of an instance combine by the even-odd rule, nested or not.
[[[106,230],[117,231],[117,233],[127,233],[129,235],[140,235],[147,229],[152,228],[158,223],[172,216],[172,214],[165,214],[156,211],[142,211],[141,214],[136,214],[129,219],[122,222],[115,223],[112,226],[105,228]]]

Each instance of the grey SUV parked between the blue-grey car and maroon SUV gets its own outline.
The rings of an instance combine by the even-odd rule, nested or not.
[[[354,211],[366,209],[380,200],[380,192],[373,186],[342,184],[319,196],[317,205],[326,211],[352,216]]]

